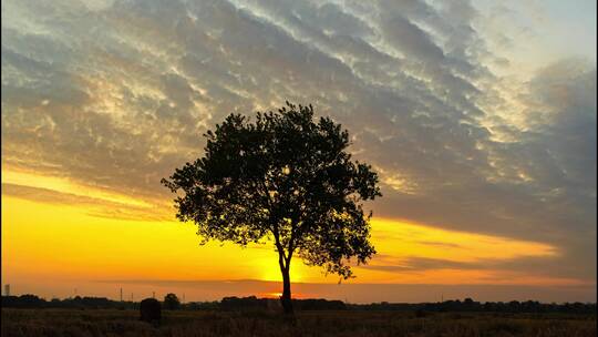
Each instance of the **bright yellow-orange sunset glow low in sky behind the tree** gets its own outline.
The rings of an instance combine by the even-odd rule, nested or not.
[[[144,201],[105,194],[66,180],[8,172],[3,183],[117,200],[135,206],[144,204]],[[41,203],[2,195],[2,282],[19,284],[43,279],[45,286],[50,286],[76,279],[281,279],[277,254],[270,245],[245,249],[218,243],[199,246],[192,224],[117,219],[90,213],[89,205]],[[417,258],[483,263],[558,256],[555,247],[542,243],[385,218],[373,218],[372,241],[379,254],[368,266],[355,267],[358,277],[349,283],[578,284],[575,279],[499,268],[442,267],[442,264],[419,268],[416,265]],[[410,266],[410,263],[415,265]],[[408,268],[393,269],[401,266]],[[321,269],[307,267],[295,259],[291,280],[334,284],[338,277],[326,277]],[[278,297],[279,293],[266,293],[265,296]]]

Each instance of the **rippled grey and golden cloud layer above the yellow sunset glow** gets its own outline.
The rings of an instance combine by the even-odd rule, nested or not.
[[[596,65],[506,79],[505,39],[466,1],[3,1],[2,165],[161,203],[226,114],[312,103],[381,173],[377,215],[548,243],[522,264],[595,282]]]

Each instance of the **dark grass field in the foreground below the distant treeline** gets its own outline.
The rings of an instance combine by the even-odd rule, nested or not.
[[[596,336],[596,316],[302,312],[296,325],[268,312],[163,312],[161,327],[136,310],[7,309],[2,336]]]

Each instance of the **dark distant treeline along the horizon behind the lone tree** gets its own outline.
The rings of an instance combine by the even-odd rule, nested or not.
[[[2,307],[10,308],[80,308],[80,309],[136,309],[137,302],[120,302],[105,297],[80,297],[45,300],[35,295],[2,296]],[[465,300],[445,300],[442,303],[374,303],[346,304],[341,300],[293,299],[297,310],[394,310],[394,312],[472,312],[472,313],[563,313],[596,314],[596,303],[545,304],[527,302],[486,302],[480,303],[471,298]],[[280,309],[280,300],[276,298],[225,297],[220,302],[192,302],[181,304],[183,310],[255,310]]]

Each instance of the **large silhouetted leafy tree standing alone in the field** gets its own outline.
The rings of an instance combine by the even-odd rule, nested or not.
[[[274,241],[282,274],[282,307],[292,313],[290,263],[295,255],[327,273],[352,276],[349,259],[365,263],[371,212],[362,201],[381,196],[370,165],[351,161],[349,133],[313,109],[287,106],[230,114],[208,131],[204,157],[162,183],[177,193],[177,217],[194,222],[202,243],[241,246]]]

